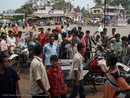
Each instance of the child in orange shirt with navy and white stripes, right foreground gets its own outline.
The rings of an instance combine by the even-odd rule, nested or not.
[[[106,64],[110,68],[103,98],[118,98],[118,96],[115,95],[116,92],[130,89],[130,86],[120,77],[120,71],[118,67],[116,67],[117,61],[118,57],[113,53],[109,53],[106,57]]]

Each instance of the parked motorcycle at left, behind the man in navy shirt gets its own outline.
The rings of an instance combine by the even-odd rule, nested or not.
[[[25,42],[21,42],[15,47],[14,54],[9,57],[9,65],[12,66],[17,74],[20,74],[21,67],[29,67],[31,61],[28,58],[29,52]]]

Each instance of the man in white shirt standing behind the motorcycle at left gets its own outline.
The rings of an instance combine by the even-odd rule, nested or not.
[[[15,46],[16,46],[16,39],[15,37],[13,36],[13,31],[9,30],[9,36],[7,38],[7,44],[8,46],[10,47],[10,53],[14,53],[14,49],[15,49]]]

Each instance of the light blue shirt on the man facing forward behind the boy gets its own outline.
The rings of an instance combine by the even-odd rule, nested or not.
[[[45,55],[45,63],[46,65],[51,65],[50,64],[50,57],[52,55],[57,55],[59,56],[59,46],[56,44],[56,43],[53,43],[53,45],[51,46],[50,43],[46,44],[44,47],[43,47],[43,52],[44,52],[44,55]]]

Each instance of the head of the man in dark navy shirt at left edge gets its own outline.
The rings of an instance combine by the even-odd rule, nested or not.
[[[5,56],[5,55],[0,55],[0,67],[1,67],[2,69],[5,69],[5,68],[8,67],[8,65],[9,65],[9,61],[8,61],[7,56]]]

